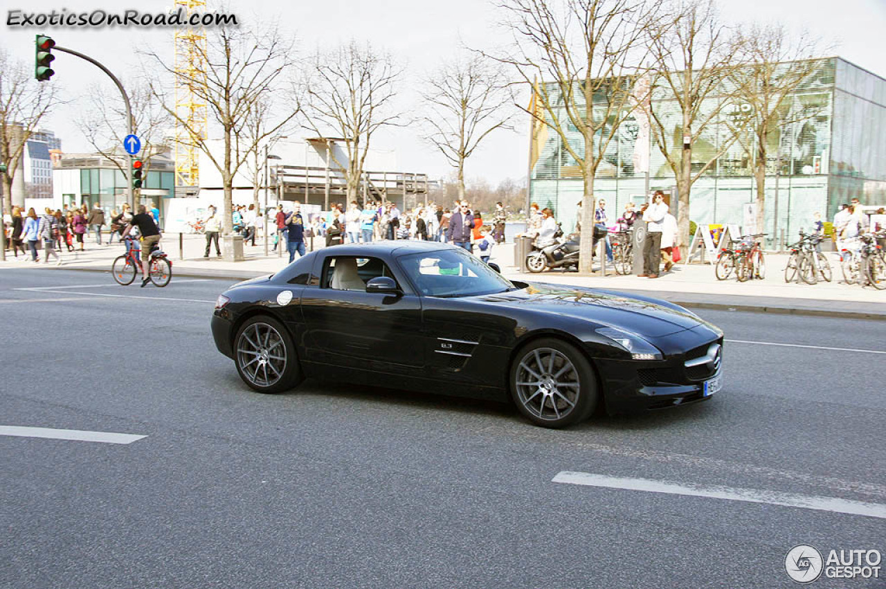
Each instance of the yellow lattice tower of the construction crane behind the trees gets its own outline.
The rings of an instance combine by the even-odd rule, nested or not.
[[[182,8],[190,16],[195,11],[204,12],[206,0],[175,0],[175,8]],[[193,81],[204,78],[205,56],[203,27],[175,29],[175,114],[179,119],[175,121],[176,186],[198,186],[200,182],[197,140],[206,139],[206,103],[195,93]]]

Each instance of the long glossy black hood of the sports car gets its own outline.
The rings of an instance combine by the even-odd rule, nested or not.
[[[520,291],[485,295],[477,299],[495,305],[567,315],[628,329],[647,337],[662,337],[703,324],[695,315],[666,306],[664,301],[659,304],[618,292],[555,284],[529,283]]]

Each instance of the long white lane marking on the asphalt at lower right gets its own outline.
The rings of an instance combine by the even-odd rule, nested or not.
[[[608,489],[624,489],[626,491],[660,492],[670,495],[688,495],[690,497],[708,497],[747,501],[750,503],[767,503],[789,508],[815,509],[838,514],[864,515],[886,519],[886,505],[882,503],[865,503],[836,497],[816,497],[795,493],[762,491],[759,489],[736,489],[721,486],[703,486],[697,484],[678,484],[656,481],[649,478],[607,477],[589,472],[572,472],[563,470],[552,479],[554,483],[582,484]]]

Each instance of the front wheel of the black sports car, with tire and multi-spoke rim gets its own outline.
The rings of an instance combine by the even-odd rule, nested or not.
[[[517,410],[530,422],[563,428],[593,413],[597,380],[594,368],[578,348],[544,337],[517,351],[510,367],[510,394]]]

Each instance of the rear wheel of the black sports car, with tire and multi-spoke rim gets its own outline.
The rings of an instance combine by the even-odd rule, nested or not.
[[[276,355],[277,351],[282,353]],[[251,317],[237,330],[234,364],[240,378],[253,391],[288,391],[304,380],[289,332],[268,315]]]

